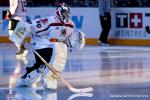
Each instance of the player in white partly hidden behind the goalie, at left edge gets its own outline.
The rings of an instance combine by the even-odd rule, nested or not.
[[[9,30],[9,35],[10,35],[10,40],[11,40],[11,36],[12,33],[14,31],[14,22],[13,20],[23,20],[23,21],[27,21],[26,17],[27,17],[27,9],[26,9],[26,0],[9,0],[9,11],[6,14],[6,18],[10,19],[9,20],[9,26],[8,26],[8,30]],[[15,44],[18,51],[16,52],[16,55],[22,55],[22,56],[26,56],[28,51],[26,50],[24,43],[22,44]]]

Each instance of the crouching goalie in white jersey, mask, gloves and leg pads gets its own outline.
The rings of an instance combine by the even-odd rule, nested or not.
[[[18,22],[14,30],[12,40],[20,44],[26,34],[31,35],[31,49],[57,71],[61,73],[67,59],[67,47],[71,50],[80,50],[84,44],[84,33],[73,32],[74,24],[70,20],[70,8],[65,3],[58,5],[55,16],[40,18],[32,21],[31,24]],[[55,38],[55,42],[50,40]],[[55,75],[43,61],[35,55],[35,64],[26,67],[26,72],[17,81],[17,86],[32,86],[41,82],[47,89],[57,88],[57,75]]]

